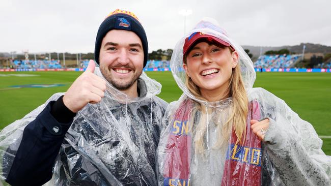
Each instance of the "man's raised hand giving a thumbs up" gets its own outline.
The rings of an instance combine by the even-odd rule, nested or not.
[[[63,97],[63,103],[72,112],[78,112],[88,103],[98,103],[104,97],[106,81],[93,74],[95,63],[90,60],[86,71],[69,87]]]

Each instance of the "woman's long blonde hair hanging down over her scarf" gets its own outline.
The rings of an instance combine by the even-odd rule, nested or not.
[[[229,48],[232,52],[232,50]],[[186,57],[184,58],[184,63],[186,64]],[[199,100],[207,101],[205,98],[201,96],[200,88],[192,81],[192,79],[186,74],[186,87],[188,90]],[[215,123],[217,126],[217,142],[213,146],[214,148],[219,148],[228,142],[228,139],[232,133],[232,129],[237,136],[236,145],[243,144],[246,137],[246,118],[248,112],[248,98],[246,95],[246,90],[244,88],[244,83],[242,81],[241,73],[240,73],[240,65],[238,64],[235,68],[232,69],[231,77],[229,79],[229,86],[227,88],[227,97],[232,97],[233,107],[231,115],[229,119],[225,122],[224,125],[218,125],[219,123]],[[224,98],[223,98],[224,99]],[[204,135],[207,130],[207,123],[204,122],[205,115],[208,113],[204,113],[203,105],[195,102],[197,107],[190,113],[190,125],[191,129],[195,127],[195,130],[192,130],[192,134],[194,135],[195,141],[195,151],[200,153],[204,152],[205,142]],[[200,111],[200,120],[194,126],[194,123],[197,122],[196,115],[197,112]],[[208,110],[207,112],[213,112],[214,109]],[[218,115],[219,116],[219,115]],[[219,116],[220,117],[220,116]],[[215,119],[215,121],[219,121],[219,119]],[[207,121],[208,122],[208,121]]]

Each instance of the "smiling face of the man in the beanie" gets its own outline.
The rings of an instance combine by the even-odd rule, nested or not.
[[[143,72],[142,41],[128,30],[109,31],[102,39],[99,65],[108,82],[119,90],[128,89]]]

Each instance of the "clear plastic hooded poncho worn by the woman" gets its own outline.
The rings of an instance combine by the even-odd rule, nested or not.
[[[185,38],[201,32],[228,42],[239,55],[241,76],[249,99],[246,138],[236,135],[220,143],[223,125],[233,107],[232,98],[205,102],[185,85]],[[171,69],[183,94],[163,117],[167,127],[158,146],[158,185],[329,185],[331,157],[321,150],[322,140],[312,125],[286,103],[263,88],[253,88],[256,74],[243,48],[213,20],[202,20],[175,46]],[[268,117],[264,141],[251,130],[251,119]],[[221,141],[222,142],[222,141]]]

